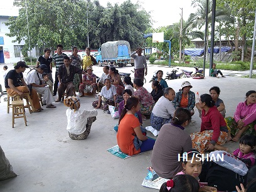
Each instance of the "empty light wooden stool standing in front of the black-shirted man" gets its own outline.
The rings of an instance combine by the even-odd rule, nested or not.
[[[24,118],[25,125],[27,126],[23,100],[14,100],[11,103],[11,105],[13,105],[13,128],[14,128],[14,119],[17,119],[17,118]]]

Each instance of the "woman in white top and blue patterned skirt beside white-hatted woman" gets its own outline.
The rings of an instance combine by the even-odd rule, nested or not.
[[[173,119],[174,106],[171,102],[175,97],[175,92],[173,88],[165,88],[164,95],[154,105],[151,113],[151,126],[160,131],[164,124],[168,124]]]

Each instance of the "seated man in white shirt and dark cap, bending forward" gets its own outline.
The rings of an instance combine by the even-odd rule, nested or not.
[[[48,73],[48,67],[45,64],[41,64],[37,68],[28,72],[26,81],[28,84],[32,85],[32,88],[35,89],[36,92],[43,95],[43,99],[46,100],[46,108],[56,108],[55,105],[51,104],[54,102],[54,99],[50,88],[46,84],[42,83],[43,73]]]

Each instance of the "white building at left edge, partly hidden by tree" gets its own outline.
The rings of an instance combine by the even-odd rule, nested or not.
[[[21,43],[16,40],[15,37],[9,37],[6,33],[9,33],[8,26],[4,22],[8,21],[11,16],[18,16],[17,8],[7,8],[0,11],[0,63],[16,63],[23,60],[23,55],[21,54],[21,49],[24,46],[24,40]],[[38,57],[39,53],[36,54],[35,49],[31,51],[33,57]]]

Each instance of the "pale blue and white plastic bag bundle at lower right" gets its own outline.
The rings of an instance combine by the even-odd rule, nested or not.
[[[248,172],[248,168],[245,163],[226,151],[210,152],[210,159],[223,168],[230,169],[242,176],[245,176],[245,174]]]

